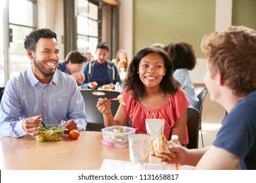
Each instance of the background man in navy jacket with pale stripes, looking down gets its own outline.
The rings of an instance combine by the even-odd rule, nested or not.
[[[116,65],[108,60],[109,48],[106,42],[99,42],[96,46],[96,59],[89,61],[83,67],[85,81],[81,88],[96,89],[98,87],[114,89],[116,82],[121,84]]]

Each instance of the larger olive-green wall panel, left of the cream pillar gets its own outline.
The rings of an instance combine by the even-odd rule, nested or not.
[[[190,42],[203,58],[200,43],[215,29],[215,0],[139,0],[134,2],[134,44],[138,52],[154,42]]]

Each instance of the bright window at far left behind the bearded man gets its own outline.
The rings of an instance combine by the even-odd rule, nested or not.
[[[23,39],[35,29],[36,1],[3,0],[0,11],[0,85],[4,85],[31,64]]]

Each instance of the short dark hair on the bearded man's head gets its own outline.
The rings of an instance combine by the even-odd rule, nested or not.
[[[32,31],[30,35],[26,35],[26,39],[24,39],[24,47],[26,50],[36,51],[36,44],[39,39],[43,38],[54,38],[57,40],[57,35],[50,29],[38,29],[36,31]]]

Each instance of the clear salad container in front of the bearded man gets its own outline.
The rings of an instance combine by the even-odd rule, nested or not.
[[[37,142],[61,141],[64,131],[68,130],[61,124],[46,124],[45,126],[47,129],[43,125],[40,126],[39,131],[41,131],[41,134],[35,136]]]

